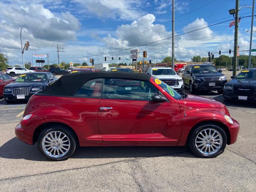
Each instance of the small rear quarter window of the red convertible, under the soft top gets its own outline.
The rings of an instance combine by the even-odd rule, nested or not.
[[[99,98],[101,97],[101,92],[102,79],[92,79],[80,87],[74,96]]]

